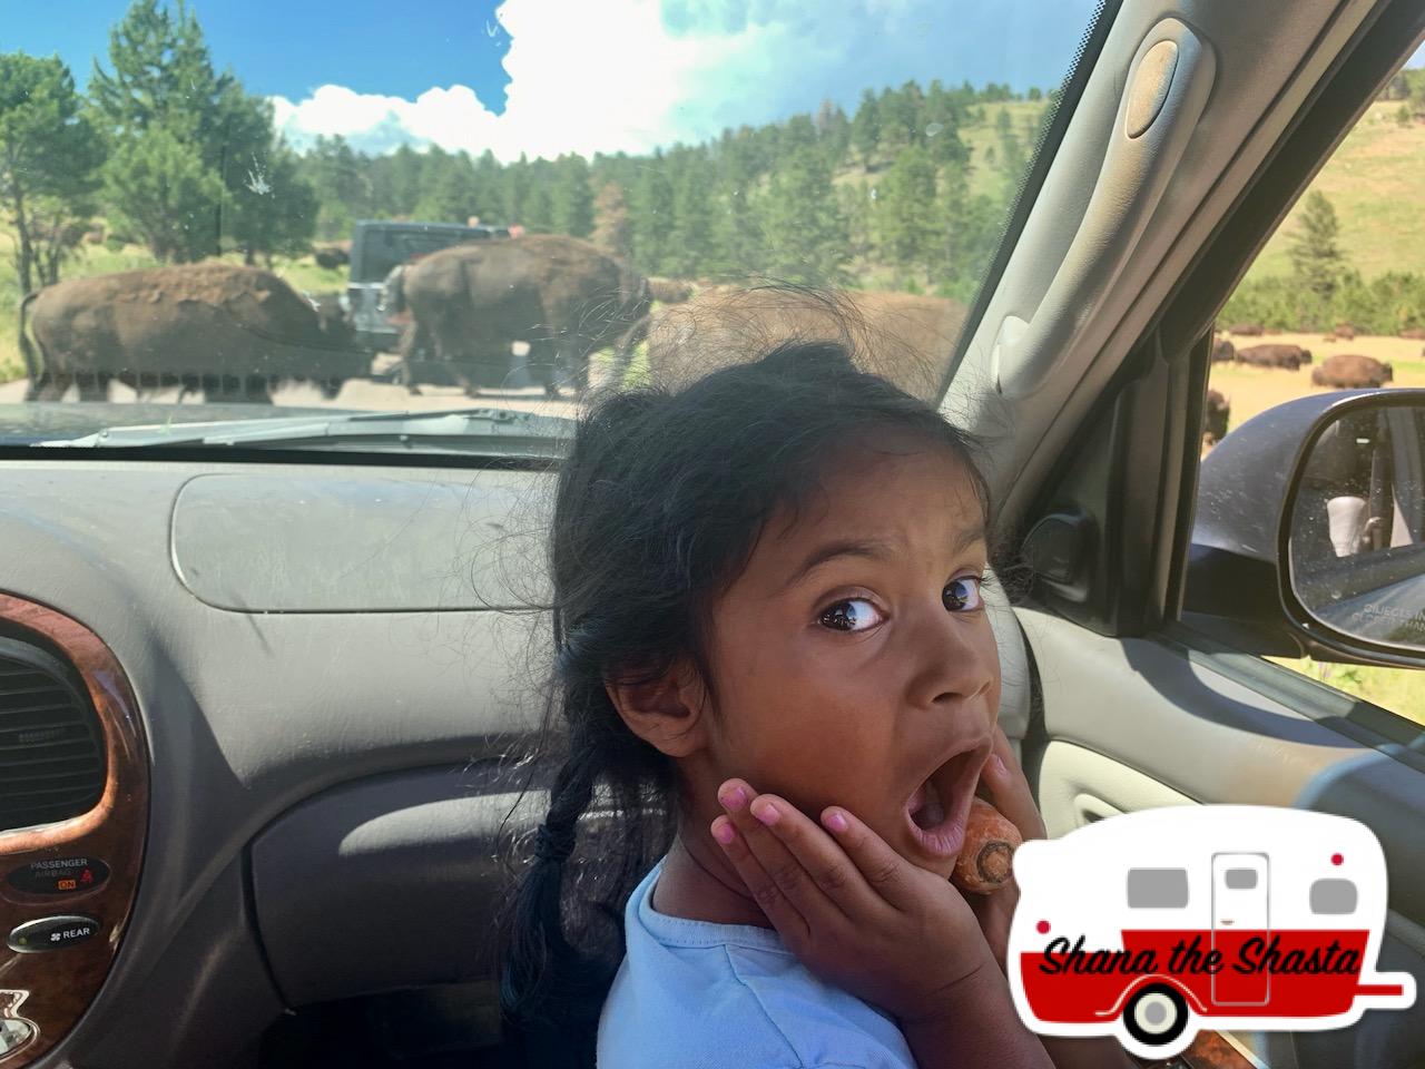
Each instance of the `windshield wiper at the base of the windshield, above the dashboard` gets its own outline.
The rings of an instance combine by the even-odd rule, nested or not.
[[[168,445],[389,449],[561,456],[574,430],[566,416],[496,408],[432,412],[351,412],[331,416],[227,419],[217,423],[113,426],[41,446],[135,448]]]

